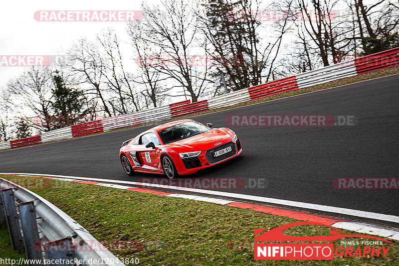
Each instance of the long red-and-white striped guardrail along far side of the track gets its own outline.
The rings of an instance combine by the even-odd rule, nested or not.
[[[157,107],[127,115],[105,118],[97,121],[81,123],[71,127],[42,133],[36,136],[0,142],[0,150],[44,143],[59,139],[67,139],[93,133],[102,133],[114,129],[139,126],[151,122],[178,118],[202,111],[232,106],[272,94],[297,90],[309,86],[356,76],[376,69],[399,65],[399,47],[372,55],[356,58],[295,76],[267,82],[246,89],[216,96],[208,100],[191,103],[190,100]]]

